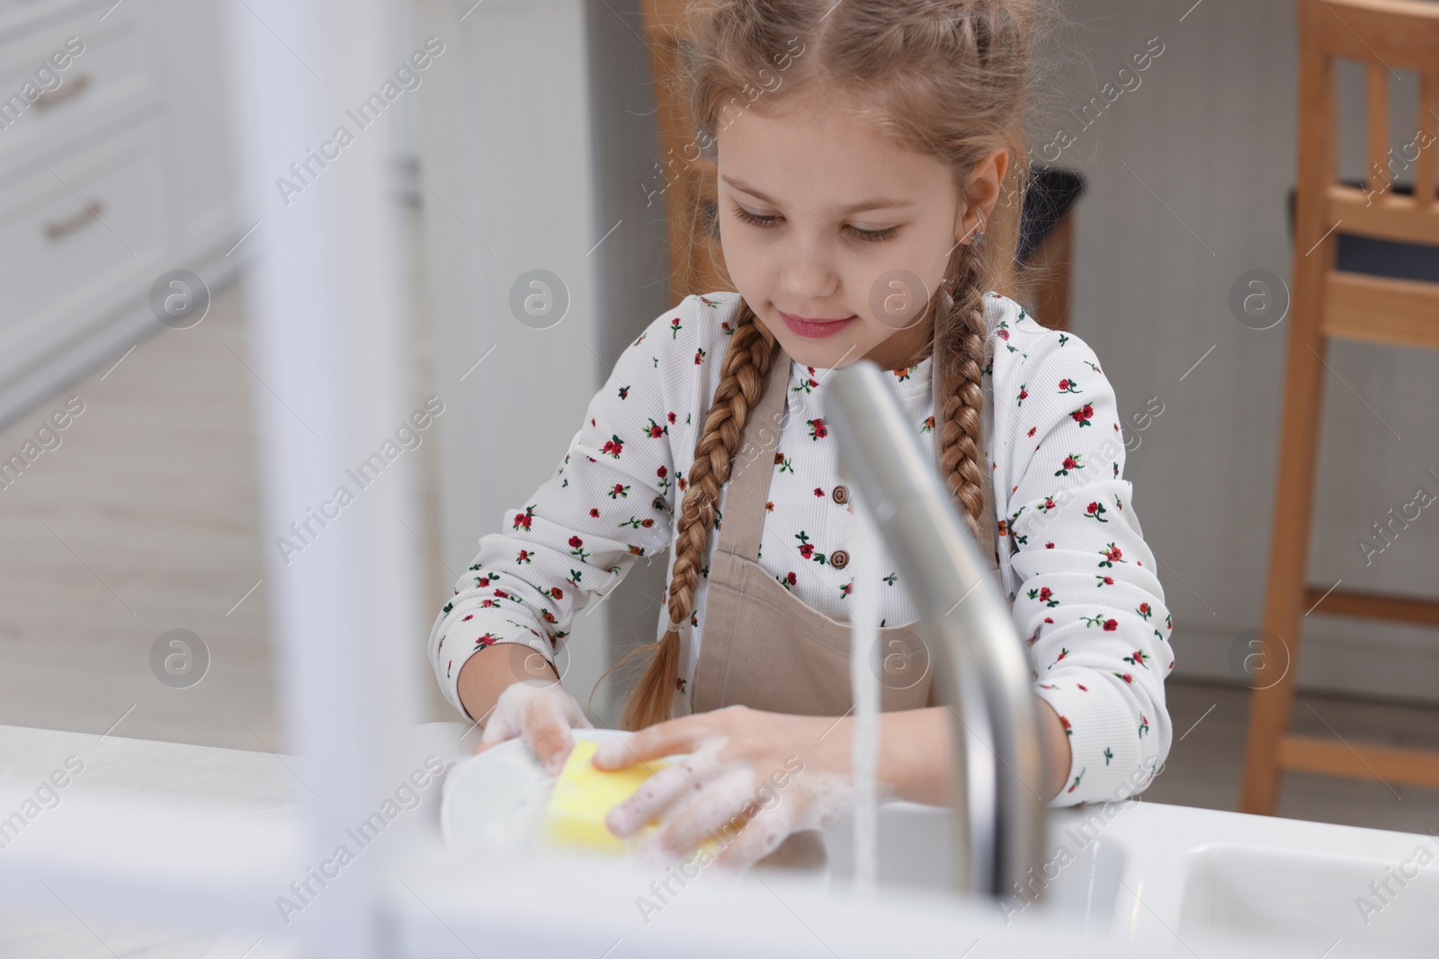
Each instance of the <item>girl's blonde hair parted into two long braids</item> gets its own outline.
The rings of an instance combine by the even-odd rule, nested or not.
[[[1014,283],[1029,183],[1025,116],[1032,22],[1027,0],[692,0],[685,16],[691,111],[711,134],[721,111],[732,104],[768,109],[778,89],[791,98],[786,102],[793,102],[794,91],[823,91],[830,104],[862,105],[861,118],[950,167],[957,196],[967,206],[974,165],[997,148],[1009,151],[1000,198],[979,227],[983,243],[963,242],[951,250],[945,282],[931,295],[921,321],[940,349],[932,370],[943,397],[943,410],[935,411],[940,473],[980,543],[986,542],[980,523],[991,522],[981,486],[980,377],[989,334],[983,298]],[[796,37],[803,43],[799,56]],[[755,78],[774,75],[771,63],[787,68],[781,88],[773,93],[766,89],[745,106],[754,98],[744,92],[754,91]],[[698,227],[692,236],[701,237],[709,227],[704,223],[708,211],[695,204],[692,214]],[[715,267],[728,279],[722,263]],[[774,335],[743,299],[734,325],[676,519],[671,628],[610,667],[649,654],[625,707],[625,729],[671,717],[679,671],[675,624],[694,614],[720,487],[730,479],[740,431],[778,354]]]

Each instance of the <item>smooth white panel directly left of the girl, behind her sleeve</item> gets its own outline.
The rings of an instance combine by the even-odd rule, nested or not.
[[[420,137],[435,391],[446,403],[439,552],[452,582],[479,538],[554,473],[603,382],[602,279],[587,253],[612,224],[596,216],[587,6],[416,4],[417,35],[446,47],[426,78]],[[509,311],[511,283],[537,267],[570,295],[548,329]],[[607,644],[603,615],[574,618],[566,684],[581,699]]]

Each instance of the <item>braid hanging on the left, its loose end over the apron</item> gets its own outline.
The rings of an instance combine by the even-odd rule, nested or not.
[[[741,430],[764,393],[764,380],[778,352],[778,341],[757,322],[744,300],[740,302],[735,324],[721,365],[720,385],[695,443],[689,483],[675,525],[673,577],[668,591],[669,630],[658,641],[630,650],[604,671],[607,676],[632,656],[650,653],[649,666],[625,705],[622,726],[629,730],[669,719],[675,677],[679,674],[679,627],[694,614],[699,568],[709,546],[720,487],[730,479]]]

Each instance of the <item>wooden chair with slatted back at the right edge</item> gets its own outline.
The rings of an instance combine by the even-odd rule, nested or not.
[[[1272,814],[1279,774],[1301,769],[1354,779],[1439,786],[1439,752],[1400,749],[1288,732],[1299,633],[1307,611],[1439,627],[1439,602],[1353,592],[1307,582],[1314,472],[1330,339],[1439,349],[1439,283],[1340,269],[1340,234],[1439,244],[1435,154],[1439,144],[1439,4],[1426,0],[1299,0],[1299,151],[1294,273],[1285,367],[1279,476],[1261,669],[1249,713],[1239,808]],[[1335,58],[1367,66],[1368,190],[1337,180]],[[1394,190],[1390,165],[1389,76],[1420,78],[1419,131],[1427,147],[1413,185]],[[1416,145],[1422,145],[1423,139]],[[1404,158],[1409,161],[1410,158]],[[1282,670],[1282,677],[1275,673]]]

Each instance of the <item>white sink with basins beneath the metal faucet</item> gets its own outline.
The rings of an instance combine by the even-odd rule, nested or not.
[[[945,890],[947,809],[879,809],[881,884]],[[825,834],[837,886],[852,874],[848,828]],[[1014,896],[1013,923],[1069,924],[1134,945],[1225,955],[1226,942],[1274,953],[1439,953],[1439,840],[1157,802],[1049,811],[1039,904]],[[1389,889],[1384,889],[1384,883]],[[1373,887],[1370,884],[1374,884]]]

